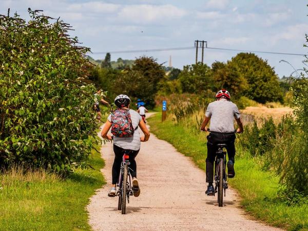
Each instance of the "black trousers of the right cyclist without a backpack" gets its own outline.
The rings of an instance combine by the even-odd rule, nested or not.
[[[235,134],[214,133],[211,132],[207,137],[207,158],[205,160],[206,182],[213,183],[214,179],[214,161],[216,157],[217,144],[226,144],[228,159],[235,162]]]

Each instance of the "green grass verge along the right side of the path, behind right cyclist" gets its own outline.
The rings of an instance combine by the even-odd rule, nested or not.
[[[148,119],[151,132],[159,139],[174,145],[185,156],[189,156],[205,170],[206,138],[171,120],[161,122],[161,113]],[[240,136],[244,136],[245,133]],[[308,205],[287,206],[275,200],[279,187],[278,178],[271,172],[261,170],[257,159],[237,149],[236,177],[230,185],[241,196],[241,205],[253,217],[271,225],[288,230],[308,230]],[[205,185],[204,185],[205,187]]]

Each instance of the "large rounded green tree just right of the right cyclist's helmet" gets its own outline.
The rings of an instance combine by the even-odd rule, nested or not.
[[[282,101],[282,91],[274,68],[256,54],[239,53],[227,62],[226,68],[226,79],[229,84],[237,83],[238,94],[259,103]]]

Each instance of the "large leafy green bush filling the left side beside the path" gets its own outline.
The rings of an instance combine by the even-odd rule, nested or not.
[[[63,21],[29,14],[29,22],[0,15],[0,163],[70,171],[86,165],[98,142],[89,139],[89,49],[67,35]]]

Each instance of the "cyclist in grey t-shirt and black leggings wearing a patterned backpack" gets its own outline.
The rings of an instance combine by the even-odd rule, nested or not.
[[[136,156],[140,150],[141,142],[148,141],[150,132],[137,111],[129,109],[130,99],[125,94],[120,94],[114,99],[114,104],[118,107],[107,118],[105,126],[101,132],[104,139],[113,140],[114,161],[112,165],[112,184],[108,196],[113,197],[116,193],[122,157],[124,151],[129,150],[129,167],[131,168],[132,188],[135,197],[140,195],[140,188],[137,180]],[[144,133],[140,137],[138,127]],[[113,136],[108,134],[111,128]]]

